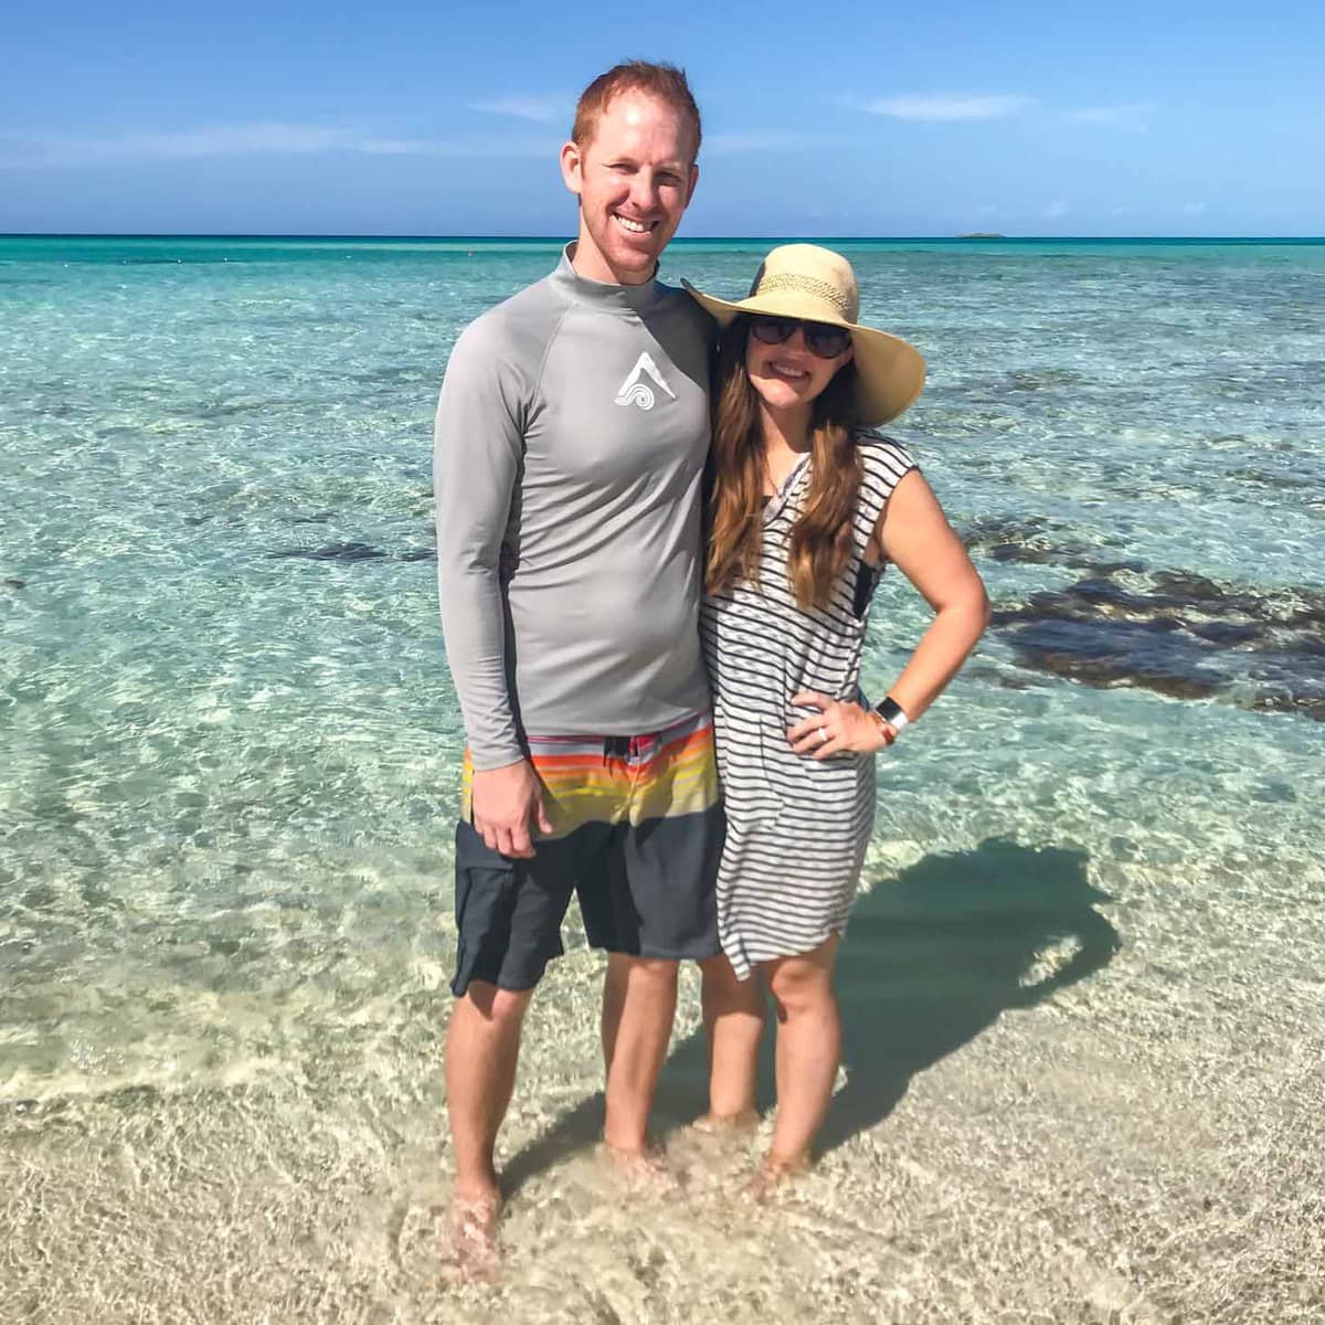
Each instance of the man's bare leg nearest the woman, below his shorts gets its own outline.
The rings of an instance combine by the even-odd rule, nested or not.
[[[672,1040],[680,962],[608,953],[603,987],[610,1153],[648,1163],[649,1109]]]

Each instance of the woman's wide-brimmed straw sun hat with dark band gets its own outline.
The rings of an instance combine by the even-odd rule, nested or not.
[[[896,419],[925,386],[925,360],[913,344],[856,322],[860,317],[856,273],[831,249],[818,244],[779,245],[759,264],[749,297],[738,303],[701,294],[689,281],[681,284],[721,327],[731,326],[742,313],[767,313],[851,331],[856,413],[867,427]]]

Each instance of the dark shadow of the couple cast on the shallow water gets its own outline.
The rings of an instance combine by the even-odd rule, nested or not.
[[[847,1085],[819,1140],[824,1153],[888,1117],[910,1079],[969,1044],[1008,1010],[1035,1007],[1106,966],[1118,933],[1086,880],[1088,856],[991,837],[974,851],[926,856],[856,901],[837,958]],[[765,1035],[759,1106],[774,1102],[771,1032]],[[674,1047],[655,1108],[666,1129],[706,1105],[702,1032]],[[563,1114],[506,1166],[518,1190],[592,1145],[603,1096]]]

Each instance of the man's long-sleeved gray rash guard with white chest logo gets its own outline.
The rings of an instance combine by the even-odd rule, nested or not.
[[[441,623],[477,770],[523,758],[523,731],[636,735],[709,704],[712,323],[571,253],[465,329],[437,404]]]

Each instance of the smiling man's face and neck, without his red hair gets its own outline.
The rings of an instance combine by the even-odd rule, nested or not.
[[[648,93],[613,97],[588,143],[562,148],[562,178],[579,196],[575,270],[612,285],[641,285],[681,224],[694,192],[694,134]]]

